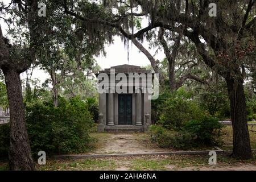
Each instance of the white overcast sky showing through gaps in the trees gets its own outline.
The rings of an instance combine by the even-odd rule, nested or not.
[[[10,3],[11,0],[3,0],[5,4]],[[6,35],[6,29],[8,28],[7,25],[0,19],[3,35]],[[142,20],[142,27],[147,26],[147,20]],[[148,49],[148,43],[144,41],[143,46]],[[125,48],[121,38],[118,36],[114,37],[113,44],[106,44],[105,45],[106,56],[102,54],[98,57],[95,57],[97,63],[100,65],[102,69],[110,68],[114,65],[121,65],[121,64],[130,64],[130,65],[138,65],[144,66],[150,64],[150,61],[147,57],[142,53],[139,52],[138,48],[135,45],[131,46],[131,41],[129,41],[129,63],[127,60],[127,48]],[[155,49],[148,49],[152,55],[155,53]],[[162,51],[158,51],[158,54],[155,55],[155,59],[162,60],[164,58],[164,53]],[[25,74],[22,74],[22,78],[24,78]],[[48,73],[44,73],[43,70],[35,69],[32,75],[32,78],[39,78],[41,82],[46,80],[49,75]]]

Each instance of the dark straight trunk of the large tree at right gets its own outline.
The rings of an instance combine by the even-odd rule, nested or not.
[[[234,158],[250,159],[250,136],[246,121],[246,102],[243,90],[243,81],[226,79],[228,85],[231,119],[233,128],[233,153]]]

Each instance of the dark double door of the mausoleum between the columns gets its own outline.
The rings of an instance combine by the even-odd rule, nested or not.
[[[133,124],[133,97],[131,94],[118,94],[118,125]]]

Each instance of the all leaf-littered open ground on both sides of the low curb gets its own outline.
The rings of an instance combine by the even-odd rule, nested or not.
[[[256,148],[256,127],[249,127],[251,147]],[[223,130],[224,150],[232,149],[232,127]],[[143,152],[175,151],[174,148],[160,148],[150,142],[145,133],[92,133],[98,142],[87,154],[136,154]],[[204,150],[201,148],[201,150]],[[101,159],[50,160],[37,166],[39,170],[253,170],[256,171],[256,155],[250,160],[237,160],[224,154],[217,155],[217,165],[208,164],[208,155],[155,155],[129,156]],[[0,171],[8,169],[7,162],[0,162]]]

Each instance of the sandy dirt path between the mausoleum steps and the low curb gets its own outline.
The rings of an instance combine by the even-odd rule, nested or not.
[[[144,133],[102,133],[98,138],[96,151],[90,154],[139,154],[144,152],[168,152],[152,144]]]

